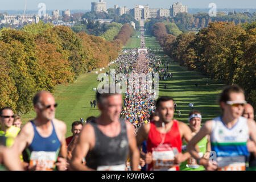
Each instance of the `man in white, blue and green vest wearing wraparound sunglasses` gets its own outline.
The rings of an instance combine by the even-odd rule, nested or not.
[[[207,170],[245,171],[248,155],[246,143],[249,137],[256,143],[256,125],[253,119],[242,117],[246,104],[244,91],[238,85],[226,87],[221,93],[219,104],[222,115],[205,122],[188,143],[187,150],[197,159],[197,164]],[[216,152],[214,162],[200,158],[193,150],[205,135],[210,135],[212,151]]]

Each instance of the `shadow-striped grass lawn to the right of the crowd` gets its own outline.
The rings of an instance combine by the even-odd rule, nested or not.
[[[146,35],[150,36],[147,32]],[[155,38],[146,37],[145,41],[146,47],[160,49],[159,42]],[[168,61],[168,73],[174,74],[173,78],[169,80],[159,80],[159,97],[170,96],[174,98],[177,103],[175,119],[187,123],[188,113],[193,109],[202,113],[202,123],[221,114],[217,99],[225,86],[222,82],[209,80],[209,85],[207,86],[205,84],[208,80],[207,76],[200,72],[188,71],[187,67],[181,67],[178,63],[171,61],[170,57],[164,55],[162,50],[155,51],[155,53],[161,56],[162,63],[163,61]],[[163,65],[160,65],[160,69],[163,68]],[[199,84],[198,88],[195,86],[196,82]],[[166,90],[164,90],[165,84],[167,84]],[[194,104],[193,107],[188,106],[190,102]],[[178,110],[181,112],[180,118],[177,114]]]

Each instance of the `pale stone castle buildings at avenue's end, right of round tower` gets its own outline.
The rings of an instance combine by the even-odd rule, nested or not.
[[[115,15],[131,14],[134,16],[134,19],[148,19],[156,18],[157,16],[176,16],[177,13],[188,13],[188,7],[181,5],[180,2],[174,3],[170,6],[170,9],[150,9],[148,5],[135,5],[134,9],[127,9],[126,7],[119,7],[118,5],[114,6]]]

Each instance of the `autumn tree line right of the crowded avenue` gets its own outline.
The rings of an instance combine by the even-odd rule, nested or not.
[[[256,106],[256,21],[234,24],[211,22],[197,34],[167,34],[164,23],[155,23],[153,32],[164,52],[173,60],[225,84],[245,89],[246,99]]]

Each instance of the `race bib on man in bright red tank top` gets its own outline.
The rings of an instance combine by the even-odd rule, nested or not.
[[[152,148],[153,170],[176,171],[177,164],[174,163],[175,155],[179,154],[177,148],[170,144],[163,144]]]

